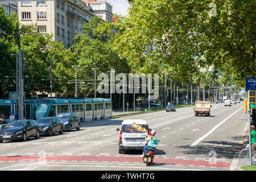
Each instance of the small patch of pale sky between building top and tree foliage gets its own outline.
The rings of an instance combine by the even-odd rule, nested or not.
[[[107,0],[113,5],[113,14],[127,15],[128,1],[127,0]]]

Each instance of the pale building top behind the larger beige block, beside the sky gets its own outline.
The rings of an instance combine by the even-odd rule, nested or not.
[[[102,18],[105,22],[112,22],[113,17],[113,7],[107,1],[100,0],[83,0],[87,3],[88,7],[93,10],[93,13],[100,18]]]

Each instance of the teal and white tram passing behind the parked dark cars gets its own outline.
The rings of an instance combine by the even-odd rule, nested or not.
[[[0,100],[0,113],[6,121],[15,110],[16,100]],[[59,113],[77,113],[81,122],[90,122],[112,117],[112,101],[108,98],[61,99],[45,98],[24,100],[24,119],[55,117]]]

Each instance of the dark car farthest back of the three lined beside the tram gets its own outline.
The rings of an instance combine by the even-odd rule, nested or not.
[[[56,117],[64,123],[64,131],[80,130],[81,121],[76,113],[60,113]]]

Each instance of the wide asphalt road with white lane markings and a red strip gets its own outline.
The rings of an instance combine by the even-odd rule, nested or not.
[[[213,104],[210,117],[195,117],[192,107],[83,123],[81,130],[26,142],[0,143],[3,170],[218,170],[236,167],[247,129],[243,103]],[[154,164],[143,163],[142,151],[118,154],[118,131],[123,119],[145,119],[160,143]]]

